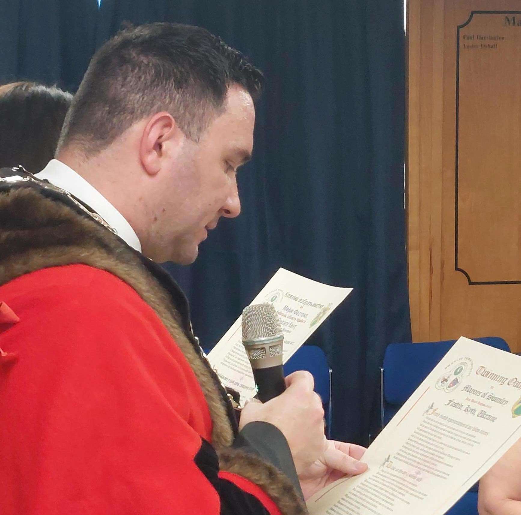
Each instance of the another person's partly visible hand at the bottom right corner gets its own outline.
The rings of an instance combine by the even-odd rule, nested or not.
[[[479,481],[479,515],[521,515],[521,440]]]

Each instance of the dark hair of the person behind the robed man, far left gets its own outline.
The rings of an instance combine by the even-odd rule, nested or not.
[[[0,168],[21,164],[41,171],[54,151],[72,95],[56,86],[11,82],[0,86]]]

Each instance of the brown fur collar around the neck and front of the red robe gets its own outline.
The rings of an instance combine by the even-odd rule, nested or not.
[[[73,263],[114,274],[153,308],[199,380],[213,421],[213,445],[231,445],[231,424],[214,380],[180,328],[169,295],[139,256],[102,225],[34,187],[0,193],[0,285],[40,268]]]

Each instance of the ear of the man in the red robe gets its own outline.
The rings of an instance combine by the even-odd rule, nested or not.
[[[154,114],[143,129],[139,146],[139,157],[145,172],[157,174],[165,159],[177,153],[183,138],[183,132],[170,113],[162,111]]]

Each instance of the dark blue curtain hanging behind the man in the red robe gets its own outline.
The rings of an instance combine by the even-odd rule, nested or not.
[[[367,444],[384,348],[411,340],[403,2],[103,0],[86,41],[101,45],[127,20],[201,25],[267,77],[254,159],[239,173],[243,213],[221,220],[193,265],[165,264],[188,294],[195,333],[209,350],[280,266],[354,287],[308,343],[333,369],[333,437]],[[82,63],[88,49],[77,51]]]

